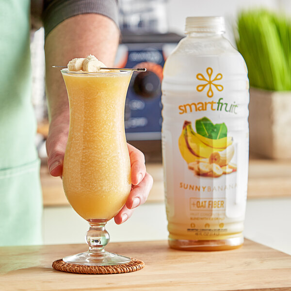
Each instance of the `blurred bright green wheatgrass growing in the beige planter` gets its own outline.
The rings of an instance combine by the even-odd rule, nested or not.
[[[248,67],[250,85],[291,90],[291,19],[266,10],[238,16],[236,43]]]

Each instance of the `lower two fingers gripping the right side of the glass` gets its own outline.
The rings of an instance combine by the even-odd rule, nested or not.
[[[114,217],[116,224],[121,224],[129,219],[133,210],[146,202],[146,198],[152,188],[153,178],[146,173],[145,178],[136,186],[133,186],[125,206]]]

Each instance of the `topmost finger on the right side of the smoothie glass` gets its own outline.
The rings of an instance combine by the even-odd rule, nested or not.
[[[145,155],[129,144],[128,149],[131,165],[131,183],[132,185],[138,185],[146,175]]]

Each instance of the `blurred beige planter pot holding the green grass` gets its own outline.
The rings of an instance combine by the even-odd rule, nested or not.
[[[291,91],[250,88],[250,153],[291,159]]]

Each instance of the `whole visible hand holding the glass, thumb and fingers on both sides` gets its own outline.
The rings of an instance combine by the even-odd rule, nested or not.
[[[69,118],[59,116],[50,123],[47,139],[49,173],[54,177],[62,177],[65,147],[68,139]],[[153,178],[146,173],[144,154],[128,144],[131,165],[131,191],[124,207],[114,217],[116,224],[125,222],[133,210],[145,203],[153,185]]]

